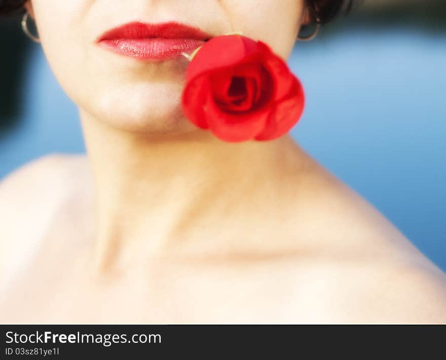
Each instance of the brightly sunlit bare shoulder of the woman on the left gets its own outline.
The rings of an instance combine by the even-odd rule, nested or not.
[[[25,261],[26,255],[38,247],[64,199],[78,186],[73,173],[85,173],[77,171],[85,169],[85,163],[85,155],[52,153],[21,166],[0,182],[0,265],[3,269],[11,268],[19,249]],[[2,271],[1,275],[6,272]]]

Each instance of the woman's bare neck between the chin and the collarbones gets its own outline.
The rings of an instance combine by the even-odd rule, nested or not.
[[[274,180],[296,165],[298,147],[289,135],[227,143],[200,130],[172,136],[122,131],[82,111],[81,121],[94,176],[95,258],[102,266],[141,247],[166,251],[200,228],[218,228],[240,204],[255,203],[255,187],[277,186]]]

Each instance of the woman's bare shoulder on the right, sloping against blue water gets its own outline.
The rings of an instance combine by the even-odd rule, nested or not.
[[[339,179],[316,168],[308,181],[299,232],[333,322],[446,324],[446,275]]]

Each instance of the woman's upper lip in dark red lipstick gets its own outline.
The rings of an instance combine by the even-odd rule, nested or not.
[[[206,41],[211,36],[199,28],[174,21],[158,24],[132,21],[107,30],[97,39],[97,42],[114,39],[141,39],[156,37]]]

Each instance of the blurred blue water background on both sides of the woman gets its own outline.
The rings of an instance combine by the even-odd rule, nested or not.
[[[445,3],[365,2],[298,43],[289,64],[307,93],[293,137],[446,271]],[[77,108],[41,47],[20,18],[0,21],[1,179],[85,147]]]

